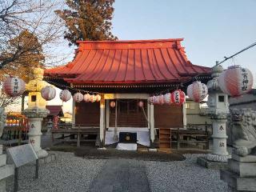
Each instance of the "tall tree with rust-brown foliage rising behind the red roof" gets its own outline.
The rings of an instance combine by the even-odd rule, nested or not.
[[[70,45],[78,40],[114,40],[111,33],[114,0],[66,0],[69,10],[56,10],[65,22]]]

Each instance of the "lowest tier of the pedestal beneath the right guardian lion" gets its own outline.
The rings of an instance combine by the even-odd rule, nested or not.
[[[227,182],[228,191],[256,191],[256,177],[240,178],[230,170],[221,170],[221,179]]]

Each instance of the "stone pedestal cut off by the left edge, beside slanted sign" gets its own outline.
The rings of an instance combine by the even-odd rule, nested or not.
[[[6,154],[2,154],[0,145],[0,192],[6,191],[6,178],[14,174],[14,165],[6,165]]]

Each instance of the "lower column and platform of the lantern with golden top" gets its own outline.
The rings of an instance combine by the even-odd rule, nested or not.
[[[38,154],[38,158],[45,158],[48,154],[46,150],[42,150],[41,148],[41,129],[42,119],[46,118],[47,114],[49,114],[49,110],[35,107],[34,109],[24,110],[23,114],[29,118],[29,142],[34,146],[34,150]]]

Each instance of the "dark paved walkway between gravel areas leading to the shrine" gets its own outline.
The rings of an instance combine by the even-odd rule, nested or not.
[[[150,185],[143,161],[108,160],[90,185],[90,192],[149,192]]]

